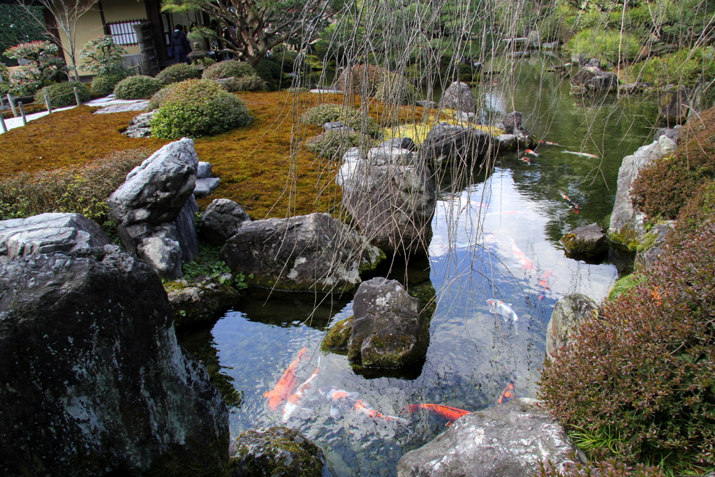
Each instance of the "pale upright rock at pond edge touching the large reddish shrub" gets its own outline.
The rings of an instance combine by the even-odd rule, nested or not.
[[[553,360],[551,353],[568,343],[586,320],[598,316],[598,305],[581,293],[571,293],[558,299],[546,325],[546,359]]]

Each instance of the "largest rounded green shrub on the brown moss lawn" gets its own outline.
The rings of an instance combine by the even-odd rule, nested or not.
[[[202,79],[172,84],[160,102],[149,126],[152,136],[162,139],[215,136],[253,120],[244,102],[219,84]]]

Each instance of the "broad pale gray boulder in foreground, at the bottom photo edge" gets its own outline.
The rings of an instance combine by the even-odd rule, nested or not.
[[[398,477],[532,477],[539,461],[563,470],[571,439],[538,401],[528,398],[459,418],[445,433],[398,463]]]

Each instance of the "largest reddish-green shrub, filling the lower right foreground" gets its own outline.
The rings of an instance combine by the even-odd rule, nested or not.
[[[556,351],[539,395],[592,458],[696,475],[715,466],[715,223],[643,275]]]

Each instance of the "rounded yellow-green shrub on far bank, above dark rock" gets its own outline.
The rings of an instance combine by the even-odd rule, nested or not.
[[[579,31],[563,45],[563,49],[572,54],[583,54],[588,58],[618,64],[636,58],[641,46],[641,40],[633,34],[595,27]]]

